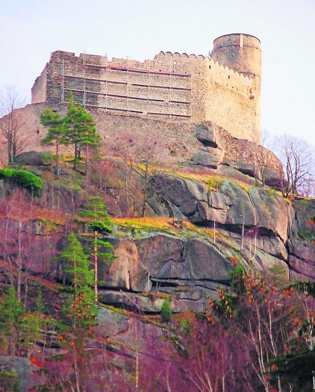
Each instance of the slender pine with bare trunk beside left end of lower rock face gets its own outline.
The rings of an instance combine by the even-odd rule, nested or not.
[[[112,260],[115,256],[110,252],[101,252],[101,248],[114,249],[113,245],[108,241],[100,240],[99,236],[101,233],[112,233],[112,221],[108,217],[108,212],[105,210],[103,200],[100,197],[93,196],[89,198],[90,204],[85,206],[83,211],[79,211],[80,216],[94,219],[89,228],[93,230],[92,238],[92,258],[95,271],[95,282],[94,292],[95,299],[97,300],[97,275],[98,275],[98,263],[99,261]]]

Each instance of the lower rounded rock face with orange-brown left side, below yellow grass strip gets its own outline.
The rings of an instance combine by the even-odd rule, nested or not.
[[[206,239],[153,232],[140,237],[138,234],[137,239],[122,237],[113,243],[119,257],[107,271],[106,266],[101,268],[105,272],[99,279],[107,290],[100,292],[100,301],[116,306],[139,306],[144,312],[159,312],[163,301],[134,293],[160,291],[182,300],[171,301],[175,312],[185,306],[199,311],[205,306],[204,293],[215,296],[216,285],[228,283],[228,271],[233,269],[231,262]]]

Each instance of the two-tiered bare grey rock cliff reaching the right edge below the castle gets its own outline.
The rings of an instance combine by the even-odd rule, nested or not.
[[[315,215],[315,201],[291,205],[275,191],[227,179],[213,190],[163,174],[154,185],[150,205],[160,215],[176,217],[180,231],[137,231],[116,239],[119,258],[100,277],[111,289],[102,301],[154,313],[162,301],[142,292],[162,292],[171,296],[173,311],[199,311],[206,295],[216,297],[217,284],[229,284],[229,271],[238,263],[257,271],[278,265],[288,279],[315,279],[315,226],[306,218]],[[189,231],[185,220],[207,230]]]

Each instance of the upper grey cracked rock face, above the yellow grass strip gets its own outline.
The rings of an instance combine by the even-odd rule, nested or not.
[[[216,222],[238,233],[244,226],[260,235],[287,241],[293,209],[276,192],[251,186],[242,188],[229,180],[224,180],[218,190],[210,191],[204,183],[167,175],[157,176],[155,183],[168,205],[165,211],[174,211],[175,206],[180,212],[175,217],[204,226]],[[155,203],[152,208],[156,209]]]

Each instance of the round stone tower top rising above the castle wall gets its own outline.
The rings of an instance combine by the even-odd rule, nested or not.
[[[237,33],[216,38],[211,59],[248,76],[261,78],[260,41],[252,35]]]

